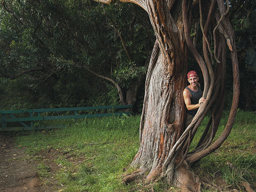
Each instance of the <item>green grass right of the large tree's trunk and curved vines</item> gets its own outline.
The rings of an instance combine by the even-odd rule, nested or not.
[[[228,119],[225,112],[220,122],[216,137],[224,130]],[[207,124],[206,118],[199,128],[203,132]],[[198,174],[208,174],[214,181],[221,177],[228,186],[244,191],[242,182],[256,186],[256,114],[238,110],[234,126],[225,142],[214,153],[203,158],[196,166]],[[196,135],[195,140],[199,140]],[[197,138],[198,137],[198,138]],[[194,145],[196,142],[194,141]]]

